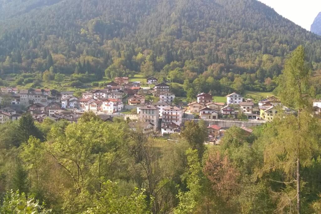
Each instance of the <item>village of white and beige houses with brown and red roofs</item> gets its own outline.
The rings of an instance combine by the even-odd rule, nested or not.
[[[204,120],[209,124],[208,142],[218,144],[229,127],[221,127],[213,121],[259,121],[258,124],[263,124],[273,120],[280,110],[288,114],[295,113],[283,106],[275,96],[254,103],[252,99],[236,92],[226,96],[226,103],[213,102],[211,94],[200,93],[195,97],[195,102],[174,104],[175,94],[169,90],[169,84],[157,84],[155,77],[147,78],[146,83],[155,86],[141,88],[141,82],[129,82],[128,77],[116,77],[104,89],[88,90],[82,93],[82,97],[75,97],[74,91],[1,88],[3,107],[0,123],[18,120],[25,112],[39,123],[45,118],[54,121],[64,119],[72,123],[77,122],[84,112],[92,111],[104,121],[112,122],[115,116],[123,117],[130,120],[129,126],[133,130],[139,126],[144,133],[164,136],[180,133],[184,120]],[[147,100],[146,94],[152,94],[157,101]],[[315,101],[313,105],[316,114],[319,114],[321,101]],[[246,134],[252,132],[244,124],[240,128]]]

